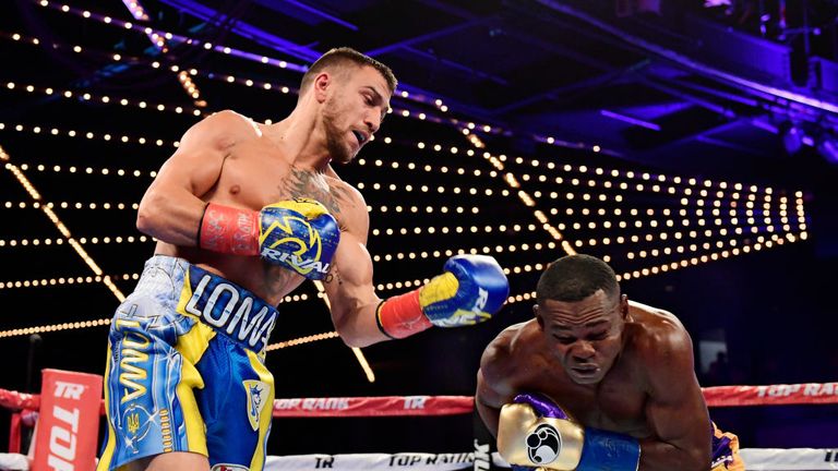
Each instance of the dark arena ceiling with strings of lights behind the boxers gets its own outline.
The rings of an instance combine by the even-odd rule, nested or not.
[[[136,204],[182,132],[227,108],[280,119],[307,64],[339,46],[400,81],[376,141],[338,169],[370,206],[382,295],[447,254],[491,253],[520,319],[563,244],[607,257],[624,281],[790,250],[809,235],[806,209],[834,208],[837,10],[813,0],[781,28],[703,1],[2,2],[0,345],[25,351],[38,333],[49,366],[100,373],[107,319],[153,251]],[[284,304],[277,341],[332,331],[314,286]],[[480,353],[467,337],[369,349],[374,390],[466,388],[457,378]],[[434,342],[468,350],[440,372],[424,366],[442,354]],[[339,378],[340,394],[372,387],[334,338],[272,362]]]

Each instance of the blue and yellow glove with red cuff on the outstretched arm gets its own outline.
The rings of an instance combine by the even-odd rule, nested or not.
[[[474,325],[506,302],[510,282],[493,257],[456,255],[443,269],[423,287],[379,304],[376,322],[384,335],[404,338],[431,326]]]

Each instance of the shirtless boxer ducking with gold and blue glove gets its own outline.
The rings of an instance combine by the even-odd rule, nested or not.
[[[620,293],[589,255],[553,262],[536,317],[486,349],[476,403],[514,466],[553,470],[744,470],[710,423],[678,318]],[[711,437],[713,435],[713,437]]]

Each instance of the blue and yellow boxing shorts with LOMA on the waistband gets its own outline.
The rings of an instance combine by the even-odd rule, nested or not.
[[[149,258],[110,325],[97,470],[169,451],[207,456],[213,470],[262,469],[274,402],[264,355],[276,317],[184,259]]]

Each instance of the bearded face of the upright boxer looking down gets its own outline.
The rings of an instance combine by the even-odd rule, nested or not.
[[[333,75],[323,107],[326,147],[334,161],[351,161],[379,130],[390,108],[386,80],[371,67],[348,67]]]

